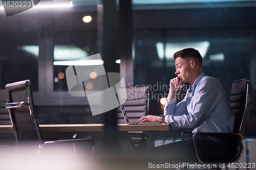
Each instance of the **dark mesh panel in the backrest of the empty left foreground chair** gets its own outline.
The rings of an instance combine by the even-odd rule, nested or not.
[[[9,103],[19,103],[19,102],[28,102],[29,92],[31,90],[31,86],[15,88],[9,91]],[[30,102],[33,99],[29,99]],[[33,108],[33,101],[32,107]],[[14,132],[17,136],[18,142],[32,142],[38,141],[40,137],[40,133],[38,134],[36,131],[36,126],[39,129],[38,124],[35,124],[35,120],[32,118],[29,107],[17,107],[11,108],[11,120],[14,126]]]

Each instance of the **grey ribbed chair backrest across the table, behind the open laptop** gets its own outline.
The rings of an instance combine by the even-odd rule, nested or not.
[[[148,114],[150,86],[126,87],[127,100],[123,103],[130,122],[137,122]],[[117,123],[125,123],[120,108],[117,108]]]

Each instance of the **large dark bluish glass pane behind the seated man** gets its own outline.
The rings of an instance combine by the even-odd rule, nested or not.
[[[199,50],[204,73],[221,82],[229,99],[232,82],[243,78],[252,80],[249,91],[255,95],[255,17],[253,1],[134,0],[133,85],[153,87],[150,114],[163,112],[160,100],[167,97],[169,81],[176,77],[173,54],[186,47]],[[186,85],[180,100],[189,88]],[[253,106],[249,103],[244,120],[247,136],[255,136]]]

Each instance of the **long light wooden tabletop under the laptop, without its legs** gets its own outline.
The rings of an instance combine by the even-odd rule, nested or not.
[[[39,125],[41,132],[100,132],[104,124]],[[117,124],[118,131],[167,131],[167,124],[127,125]],[[12,125],[0,125],[0,132],[13,132]]]

